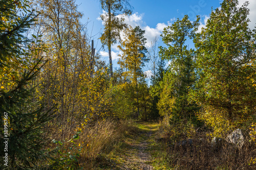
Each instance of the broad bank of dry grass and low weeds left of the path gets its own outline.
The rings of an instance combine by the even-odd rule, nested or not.
[[[117,147],[125,134],[136,132],[133,124],[132,120],[104,120],[81,129],[78,139],[69,140],[76,132],[73,134],[67,132],[65,136],[69,137],[65,141],[61,140],[62,132],[52,131],[51,134],[54,134],[56,140],[63,141],[60,152],[54,155],[54,158],[58,162],[63,158],[69,160],[62,163],[55,162],[54,168],[97,169],[101,164],[111,163],[105,160],[104,155]],[[49,143],[48,148],[54,148],[56,145],[58,144]],[[79,156],[75,156],[76,154]],[[75,159],[71,160],[70,156],[75,156]]]

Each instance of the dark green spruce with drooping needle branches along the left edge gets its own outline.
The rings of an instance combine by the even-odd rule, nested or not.
[[[42,61],[31,60],[35,52],[24,36],[36,17],[27,4],[28,1],[0,2],[1,169],[39,168],[38,162],[49,158],[49,152],[43,149],[47,141],[43,129],[51,114],[31,100],[34,89],[30,83],[38,75]],[[4,150],[7,140],[8,149]],[[6,154],[8,162],[4,165]]]

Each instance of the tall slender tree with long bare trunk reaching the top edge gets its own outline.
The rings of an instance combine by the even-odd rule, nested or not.
[[[104,22],[104,31],[100,37],[101,43],[108,46],[110,58],[110,74],[113,77],[111,45],[121,41],[120,33],[127,28],[125,15],[132,14],[129,0],[100,0],[101,8],[105,11],[100,17]]]

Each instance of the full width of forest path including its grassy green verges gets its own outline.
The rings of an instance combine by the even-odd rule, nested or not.
[[[106,155],[109,163],[100,169],[169,169],[163,160],[165,155],[163,145],[155,141],[159,125],[137,122],[134,126],[133,133],[126,134],[118,147]]]

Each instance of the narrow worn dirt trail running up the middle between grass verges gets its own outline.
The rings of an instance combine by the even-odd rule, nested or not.
[[[127,137],[124,140],[126,144],[125,153],[121,156],[123,163],[115,169],[142,169],[152,170],[152,157],[150,154],[150,144],[152,143],[153,135],[157,129],[155,126],[150,126],[147,123],[138,123],[139,132],[134,136]]]

